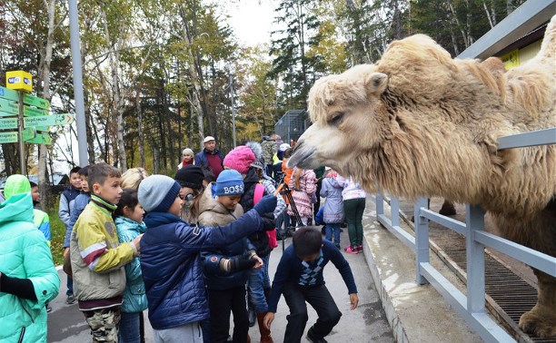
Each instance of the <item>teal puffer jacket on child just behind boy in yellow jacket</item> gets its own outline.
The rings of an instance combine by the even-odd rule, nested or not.
[[[124,216],[118,216],[114,220],[118,231],[120,243],[132,241],[135,237],[144,233],[146,226],[144,223],[130,220]],[[141,263],[136,257],[124,266],[125,270],[125,290],[122,312],[136,313],[147,309],[146,293],[144,291],[143,274],[141,273]]]

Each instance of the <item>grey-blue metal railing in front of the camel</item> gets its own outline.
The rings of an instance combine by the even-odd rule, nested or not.
[[[556,143],[556,128],[501,137],[498,142],[499,150],[554,144]],[[377,219],[415,252],[416,282],[419,284],[431,283],[485,341],[515,342],[516,340],[486,313],[484,249],[498,250],[552,277],[556,277],[556,258],[484,231],[484,213],[482,208],[477,205],[465,205],[465,223],[462,223],[429,210],[427,198],[420,198],[414,204],[414,236],[400,226],[400,201],[392,198],[390,205],[392,217],[388,218],[384,214],[382,194],[379,193],[376,196]],[[429,220],[465,236],[467,296],[430,264]]]

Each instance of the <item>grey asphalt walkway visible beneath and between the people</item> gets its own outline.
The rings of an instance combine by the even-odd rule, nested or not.
[[[291,244],[291,239],[285,241],[285,245]],[[347,230],[342,233],[342,246],[348,242]],[[282,242],[279,242],[277,249],[273,250],[270,261],[270,275],[272,276],[276,270],[278,261],[282,256]],[[324,279],[326,285],[333,295],[338,308],[342,311],[343,316],[333,332],[326,338],[329,342],[346,343],[346,342],[378,342],[391,343],[394,341],[392,329],[390,328],[386,315],[382,309],[382,302],[374,287],[371,278],[371,272],[367,266],[363,254],[351,255],[345,254],[345,258],[350,262],[355,282],[359,290],[359,307],[350,310],[349,297],[347,288],[343,283],[342,276],[335,269],[333,263],[329,263],[324,270]],[[89,329],[84,321],[84,317],[77,309],[77,305],[65,304],[65,274],[59,271],[62,285],[60,286],[60,294],[51,302],[53,311],[48,316],[48,342],[89,342],[91,336]],[[273,338],[276,342],[283,341],[283,333],[286,325],[286,315],[289,313],[283,298],[278,305],[278,312],[273,321]],[[152,328],[148,324],[148,316],[145,311],[145,335],[146,341],[152,342]],[[309,321],[306,329],[310,328],[316,320],[316,313],[309,306]],[[258,342],[260,335],[258,328],[250,328],[249,333],[253,338],[253,342]],[[303,338],[302,342],[306,342]]]

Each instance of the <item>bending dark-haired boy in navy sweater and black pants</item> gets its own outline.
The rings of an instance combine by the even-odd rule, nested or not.
[[[300,342],[307,323],[307,301],[319,318],[307,332],[313,343],[325,343],[326,337],[340,321],[342,313],[324,285],[323,269],[328,261],[342,274],[350,295],[351,309],[359,302],[352,269],[333,243],[323,240],[318,228],[304,227],[293,233],[293,244],[284,252],[273,279],[273,288],[268,301],[268,313],[264,325],[270,328],[280,295],[290,308],[284,342]]]

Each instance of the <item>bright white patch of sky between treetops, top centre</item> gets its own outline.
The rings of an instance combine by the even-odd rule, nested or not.
[[[227,4],[228,23],[244,45],[270,43],[276,0],[240,0]]]

